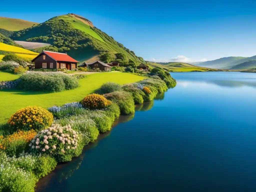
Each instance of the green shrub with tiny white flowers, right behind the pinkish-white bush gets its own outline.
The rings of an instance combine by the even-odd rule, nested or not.
[[[60,124],[61,126],[70,124],[73,130],[80,133],[84,140],[84,145],[95,141],[99,135],[99,130],[97,129],[95,122],[84,114],[72,115],[70,117],[59,119],[56,120],[55,123]],[[89,137],[88,142],[87,137]]]

